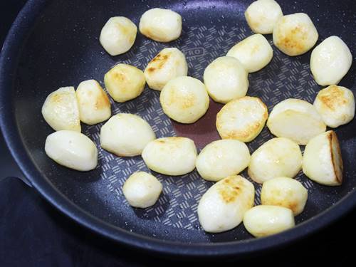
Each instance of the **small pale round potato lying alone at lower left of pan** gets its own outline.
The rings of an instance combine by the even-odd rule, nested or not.
[[[162,184],[152,174],[135,172],[125,181],[122,192],[130,206],[145,209],[156,203]]]

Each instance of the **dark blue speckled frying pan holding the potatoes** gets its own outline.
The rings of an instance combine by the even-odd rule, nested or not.
[[[305,12],[319,32],[319,41],[337,35],[355,51],[355,5],[347,1],[279,1],[284,14]],[[104,74],[116,63],[144,69],[162,48],[177,47],[187,56],[189,75],[202,78],[204,68],[236,42],[252,34],[244,19],[251,1],[45,1],[29,0],[14,22],[1,51],[0,125],[6,144],[22,172],[53,206],[103,236],[169,256],[246,256],[283,246],[330,224],[356,204],[356,120],[338,127],[345,181],[340,187],[315,184],[303,174],[298,179],[308,188],[305,211],[298,226],[275,236],[253,239],[243,225],[221,234],[206,234],[199,226],[197,203],[211,186],[196,171],[182,177],[153,173],[164,186],[155,206],[132,209],[122,195],[125,179],[137,170],[148,171],[141,157],[122,158],[101,150],[99,132],[103,123],[83,125],[83,133],[99,147],[98,168],[76,172],[46,157],[44,142],[53,130],[41,116],[46,96],[62,86],[78,86],[94,78],[103,84]],[[157,43],[137,34],[135,45],[120,56],[109,56],[100,46],[100,29],[111,16],[127,16],[138,25],[140,16],[152,7],[173,9],[183,17],[182,36],[171,43]],[[272,44],[271,35],[266,36]],[[320,90],[310,74],[310,51],[289,57],[273,46],[271,63],[249,75],[248,95],[260,97],[271,111],[286,98],[313,102]],[[355,93],[355,66],[340,85]],[[164,115],[159,92],[145,88],[139,98],[113,103],[112,113],[141,115],[157,137],[191,137],[201,149],[219,139],[215,115],[221,105],[211,101],[207,114],[193,125],[180,125]],[[265,128],[248,143],[251,152],[271,139]],[[243,172],[244,177],[248,177]],[[261,186],[256,187],[256,204]]]

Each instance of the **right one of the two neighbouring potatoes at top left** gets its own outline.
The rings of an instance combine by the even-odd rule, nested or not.
[[[170,9],[150,9],[142,15],[139,28],[152,40],[170,42],[182,33],[182,16]]]

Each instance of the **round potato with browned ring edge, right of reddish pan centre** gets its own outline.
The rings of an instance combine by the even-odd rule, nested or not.
[[[268,117],[259,98],[245,96],[231,100],[216,115],[216,129],[222,139],[250,142],[261,132]]]

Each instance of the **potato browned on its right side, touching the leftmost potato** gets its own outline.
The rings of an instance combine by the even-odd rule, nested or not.
[[[80,120],[94,125],[111,116],[108,95],[96,80],[85,80],[78,85],[75,92],[78,100]]]

